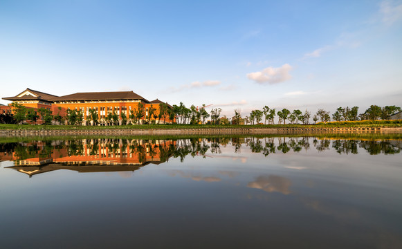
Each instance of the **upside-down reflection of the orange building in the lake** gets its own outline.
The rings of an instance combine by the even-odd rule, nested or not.
[[[134,171],[149,163],[164,163],[172,156],[172,140],[75,140],[28,142],[0,154],[0,160],[12,160],[21,173],[34,174],[56,169],[77,172]]]

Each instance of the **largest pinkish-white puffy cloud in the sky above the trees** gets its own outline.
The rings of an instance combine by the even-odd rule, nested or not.
[[[292,76],[289,74],[289,71],[291,70],[292,66],[289,64],[284,64],[278,68],[270,66],[260,72],[248,73],[247,77],[257,83],[275,84],[290,80]]]

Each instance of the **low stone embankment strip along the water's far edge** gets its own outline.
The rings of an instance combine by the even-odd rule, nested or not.
[[[219,134],[286,134],[305,132],[397,132],[402,127],[314,127],[314,128],[199,128],[199,129],[3,129],[0,137],[10,136],[55,136],[55,135],[219,135]]]

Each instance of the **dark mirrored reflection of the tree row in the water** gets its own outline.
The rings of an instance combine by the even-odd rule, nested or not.
[[[152,161],[154,161],[154,158],[159,157],[161,162],[165,162],[170,156],[180,158],[181,162],[183,162],[185,156],[189,154],[192,157],[203,156],[203,158],[205,158],[208,151],[212,154],[221,154],[221,146],[226,146],[227,144],[228,138],[189,138],[158,140],[158,142],[156,140],[141,139],[58,140],[16,142],[8,144],[12,145],[11,148],[8,148],[8,151],[10,151],[10,154],[12,154],[12,151],[15,152],[15,160],[24,160],[37,157],[51,158],[55,151],[58,151],[57,155],[60,156],[63,154],[68,156],[98,156],[102,148],[101,157],[111,157],[112,154],[122,154],[122,157],[127,157],[129,152],[130,154],[138,155],[139,163],[146,163],[147,157],[152,158]],[[239,153],[241,146],[247,145],[252,153],[261,153],[264,156],[275,154],[276,151],[286,154],[292,149],[294,152],[310,149],[309,137],[241,138],[241,140],[232,138],[231,144],[235,147],[235,153]],[[318,151],[326,151],[331,147],[338,154],[358,154],[359,149],[365,149],[372,155],[397,154],[401,152],[400,148],[394,147],[390,142],[378,140],[318,140],[315,138],[313,145]],[[2,147],[4,146],[2,145]],[[127,147],[129,147],[129,151],[127,151]]]

